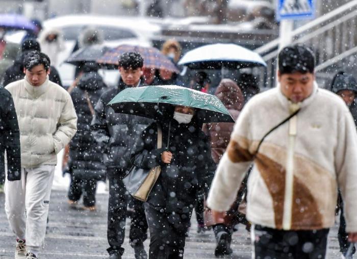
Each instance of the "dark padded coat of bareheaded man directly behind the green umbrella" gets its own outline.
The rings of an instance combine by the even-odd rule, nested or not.
[[[117,88],[103,93],[95,105],[95,116],[91,123],[97,148],[104,153],[105,165],[107,168],[123,171],[131,166],[130,153],[136,139],[152,121],[139,116],[115,113],[107,106],[111,99],[127,87],[120,80]]]

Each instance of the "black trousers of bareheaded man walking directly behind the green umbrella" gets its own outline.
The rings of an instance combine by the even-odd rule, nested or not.
[[[123,254],[122,244],[125,239],[125,221],[127,216],[128,196],[122,178],[125,172],[119,169],[108,169],[109,179],[109,204],[108,204],[108,230],[107,238],[109,254]],[[134,210],[130,225],[130,244],[135,246],[147,239],[147,221],[144,203],[134,199]]]

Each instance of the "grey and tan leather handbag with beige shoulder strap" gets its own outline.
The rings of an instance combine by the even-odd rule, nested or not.
[[[162,147],[162,130],[158,125],[158,149]],[[123,178],[126,190],[135,199],[146,201],[149,196],[152,187],[154,187],[156,181],[161,173],[161,167],[156,166],[151,169],[142,169],[137,166],[133,166],[129,173]]]

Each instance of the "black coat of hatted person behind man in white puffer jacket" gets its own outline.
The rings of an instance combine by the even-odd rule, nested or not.
[[[3,79],[3,86],[6,87],[8,84],[19,81],[23,79],[25,74],[23,73],[22,57],[20,55],[8,69],[6,69]],[[50,67],[50,73],[48,75],[49,81],[56,83],[57,85],[62,86],[61,77],[54,66]]]

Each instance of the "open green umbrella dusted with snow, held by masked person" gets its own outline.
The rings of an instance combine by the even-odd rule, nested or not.
[[[172,106],[181,105],[195,108],[196,117],[203,123],[234,122],[228,110],[215,95],[181,86],[126,88],[108,105],[117,113],[152,119],[165,115],[165,110]]]

